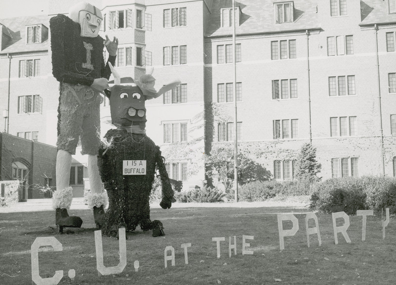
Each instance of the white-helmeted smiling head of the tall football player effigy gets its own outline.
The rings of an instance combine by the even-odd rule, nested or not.
[[[79,23],[81,37],[96,38],[103,20],[100,9],[87,2],[78,2],[69,8],[69,18]]]

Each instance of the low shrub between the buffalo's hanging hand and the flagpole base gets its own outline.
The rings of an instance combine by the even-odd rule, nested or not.
[[[197,187],[193,190],[188,190],[175,194],[177,201],[182,203],[198,202],[198,203],[215,203],[223,202],[225,193],[218,188],[211,188],[205,186],[203,188]]]

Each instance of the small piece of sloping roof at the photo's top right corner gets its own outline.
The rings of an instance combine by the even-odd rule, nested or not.
[[[360,1],[361,23],[363,25],[396,23],[396,13],[389,14],[388,0]]]

